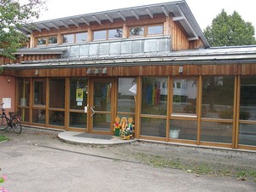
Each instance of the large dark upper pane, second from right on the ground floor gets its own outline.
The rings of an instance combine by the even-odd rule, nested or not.
[[[233,119],[234,77],[203,77],[202,117]]]

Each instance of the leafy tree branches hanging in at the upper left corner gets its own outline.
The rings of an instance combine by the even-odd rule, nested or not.
[[[3,56],[15,59],[13,53],[26,43],[26,36],[16,28],[38,19],[44,5],[44,0],[0,0],[0,49]]]

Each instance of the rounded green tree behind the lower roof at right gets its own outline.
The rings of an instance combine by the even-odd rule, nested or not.
[[[227,15],[222,9],[212,20],[212,26],[204,30],[204,34],[213,47],[256,44],[252,23],[242,20],[236,11]]]

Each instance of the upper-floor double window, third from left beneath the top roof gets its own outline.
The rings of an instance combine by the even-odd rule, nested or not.
[[[107,29],[93,32],[93,40],[108,40],[111,38],[123,38],[123,29]]]

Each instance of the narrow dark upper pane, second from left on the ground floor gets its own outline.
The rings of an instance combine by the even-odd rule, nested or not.
[[[34,80],[34,105],[43,105],[46,103],[46,79]]]

